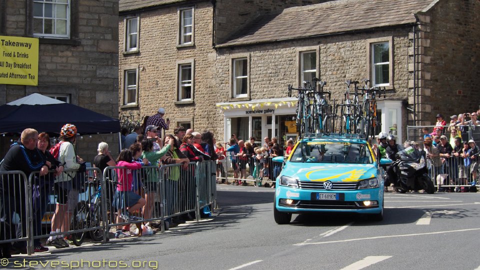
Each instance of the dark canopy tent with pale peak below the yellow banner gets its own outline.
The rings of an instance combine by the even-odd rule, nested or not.
[[[74,124],[80,134],[120,131],[118,119],[38,93],[0,106],[0,133],[20,133],[25,128],[59,133],[65,123]]]

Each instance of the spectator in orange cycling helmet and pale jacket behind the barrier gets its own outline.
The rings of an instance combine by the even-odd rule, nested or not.
[[[65,169],[79,169],[81,158],[76,155],[73,143],[76,140],[76,126],[65,124],[60,130],[60,147],[57,160],[64,164]],[[51,232],[68,231],[70,228],[70,219],[73,209],[78,201],[78,186],[73,184],[76,177],[75,171],[63,171],[54,180],[54,189],[57,194],[55,213],[51,218]],[[47,245],[56,248],[67,247],[68,243],[63,239],[63,235],[52,235],[46,241]]]

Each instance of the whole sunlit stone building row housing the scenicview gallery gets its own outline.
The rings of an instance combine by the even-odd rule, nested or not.
[[[338,102],[346,79],[370,78],[387,90],[381,130],[403,140],[407,125],[476,109],[478,11],[476,0],[120,0],[120,113],[165,107],[171,125],[219,139],[281,139],[294,135],[288,84],[319,77]]]

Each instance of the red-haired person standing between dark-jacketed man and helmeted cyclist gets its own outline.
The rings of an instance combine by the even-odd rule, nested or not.
[[[54,170],[54,172],[48,172],[45,176],[40,176],[40,182],[38,186],[38,201],[39,203],[33,203],[36,207],[33,208],[32,216],[34,218],[34,228],[33,234],[40,235],[41,234],[41,220],[46,212],[46,207],[48,202],[50,201],[50,190],[53,188],[53,182],[55,180],[55,176],[63,172],[63,164],[61,164],[58,160],[51,155],[50,151],[50,137],[47,133],[40,133],[38,134],[38,142],[37,148],[40,152],[44,155],[43,158],[50,162],[51,166],[49,167],[50,170]],[[35,193],[35,192],[34,192]],[[33,246],[34,252],[45,252],[48,251],[48,247],[44,247],[41,245],[40,239],[33,239]]]

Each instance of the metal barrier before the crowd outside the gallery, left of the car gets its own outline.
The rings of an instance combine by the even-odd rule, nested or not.
[[[266,186],[265,183],[271,186],[275,183],[276,176],[280,173],[282,166],[281,163],[273,162],[271,156],[268,156],[263,163],[260,163],[255,157],[247,158],[246,160],[241,160],[237,157],[235,161],[232,161],[229,154],[225,159],[226,161],[222,161],[225,177],[217,177],[220,180],[217,180],[217,182],[223,182],[223,179],[225,179],[224,182],[226,184],[242,184],[246,182],[247,184],[253,183],[254,186]],[[217,174],[219,174],[218,170],[217,165]]]

